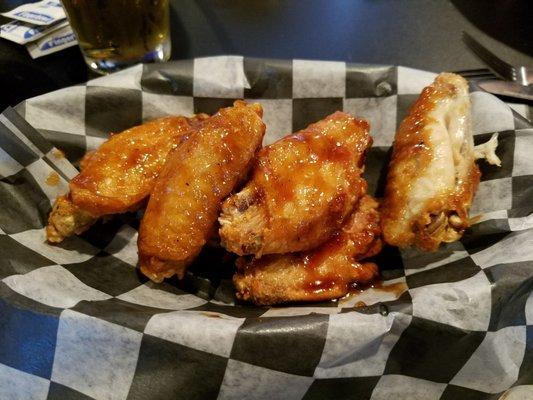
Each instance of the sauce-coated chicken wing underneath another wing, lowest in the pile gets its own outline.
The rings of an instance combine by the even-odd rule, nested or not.
[[[236,296],[258,305],[324,301],[344,296],[354,283],[378,275],[373,263],[360,262],[381,250],[377,202],[364,196],[346,226],[314,250],[237,261]]]

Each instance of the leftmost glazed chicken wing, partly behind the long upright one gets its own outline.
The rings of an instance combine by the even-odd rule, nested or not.
[[[138,209],[150,194],[168,154],[208,116],[165,117],[112,135],[81,160],[70,193],[56,200],[48,241],[87,230],[99,217]]]

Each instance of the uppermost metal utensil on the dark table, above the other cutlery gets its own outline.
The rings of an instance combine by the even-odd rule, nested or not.
[[[500,78],[524,86],[533,84],[533,68],[513,66],[503,61],[464,31],[463,42]]]

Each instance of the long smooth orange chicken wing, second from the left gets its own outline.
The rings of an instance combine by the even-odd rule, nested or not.
[[[155,282],[177,274],[216,229],[222,200],[247,174],[265,125],[259,104],[237,101],[204,121],[169,157],[139,231],[141,271]]]

